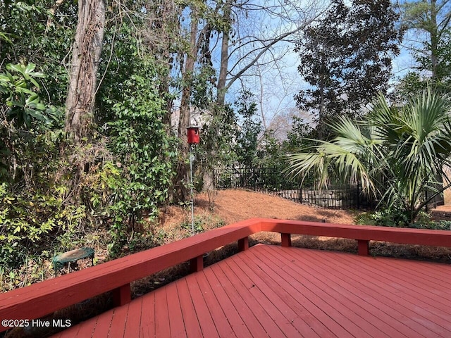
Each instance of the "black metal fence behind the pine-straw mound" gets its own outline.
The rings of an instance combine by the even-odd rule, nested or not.
[[[214,171],[216,189],[252,189],[277,194],[302,204],[323,208],[373,208],[371,201],[362,194],[362,188],[334,184],[330,189],[314,189],[313,182],[299,182],[284,175],[280,168],[220,168]]]

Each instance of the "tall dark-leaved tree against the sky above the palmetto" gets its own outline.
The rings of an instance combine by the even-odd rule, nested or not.
[[[299,108],[316,113],[320,138],[328,116],[357,113],[388,88],[391,60],[399,53],[397,18],[388,0],[334,0],[304,30],[295,50],[299,73],[311,88],[295,99]]]

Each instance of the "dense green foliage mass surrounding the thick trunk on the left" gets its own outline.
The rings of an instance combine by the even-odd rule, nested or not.
[[[120,253],[141,238],[144,218],[156,218],[174,173],[168,95],[160,94],[168,70],[142,53],[142,20],[109,21],[92,139],[66,140],[58,107],[77,15],[52,4],[1,8],[1,56],[10,63],[0,68],[0,274],[17,276],[10,287],[17,269],[58,251],[102,243]]]

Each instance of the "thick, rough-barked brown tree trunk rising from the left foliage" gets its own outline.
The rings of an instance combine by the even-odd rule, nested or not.
[[[103,0],[78,0],[65,123],[66,134],[74,144],[80,144],[90,136],[104,25]]]

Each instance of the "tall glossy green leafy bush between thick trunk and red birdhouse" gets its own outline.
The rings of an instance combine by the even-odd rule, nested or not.
[[[175,141],[162,123],[165,102],[157,88],[140,75],[132,75],[124,85],[123,101],[113,105],[112,122],[106,124],[108,147],[116,158],[104,166],[109,173],[104,184],[111,199],[106,213],[112,218],[112,251],[132,238],[144,211],[156,216],[175,172]]]

